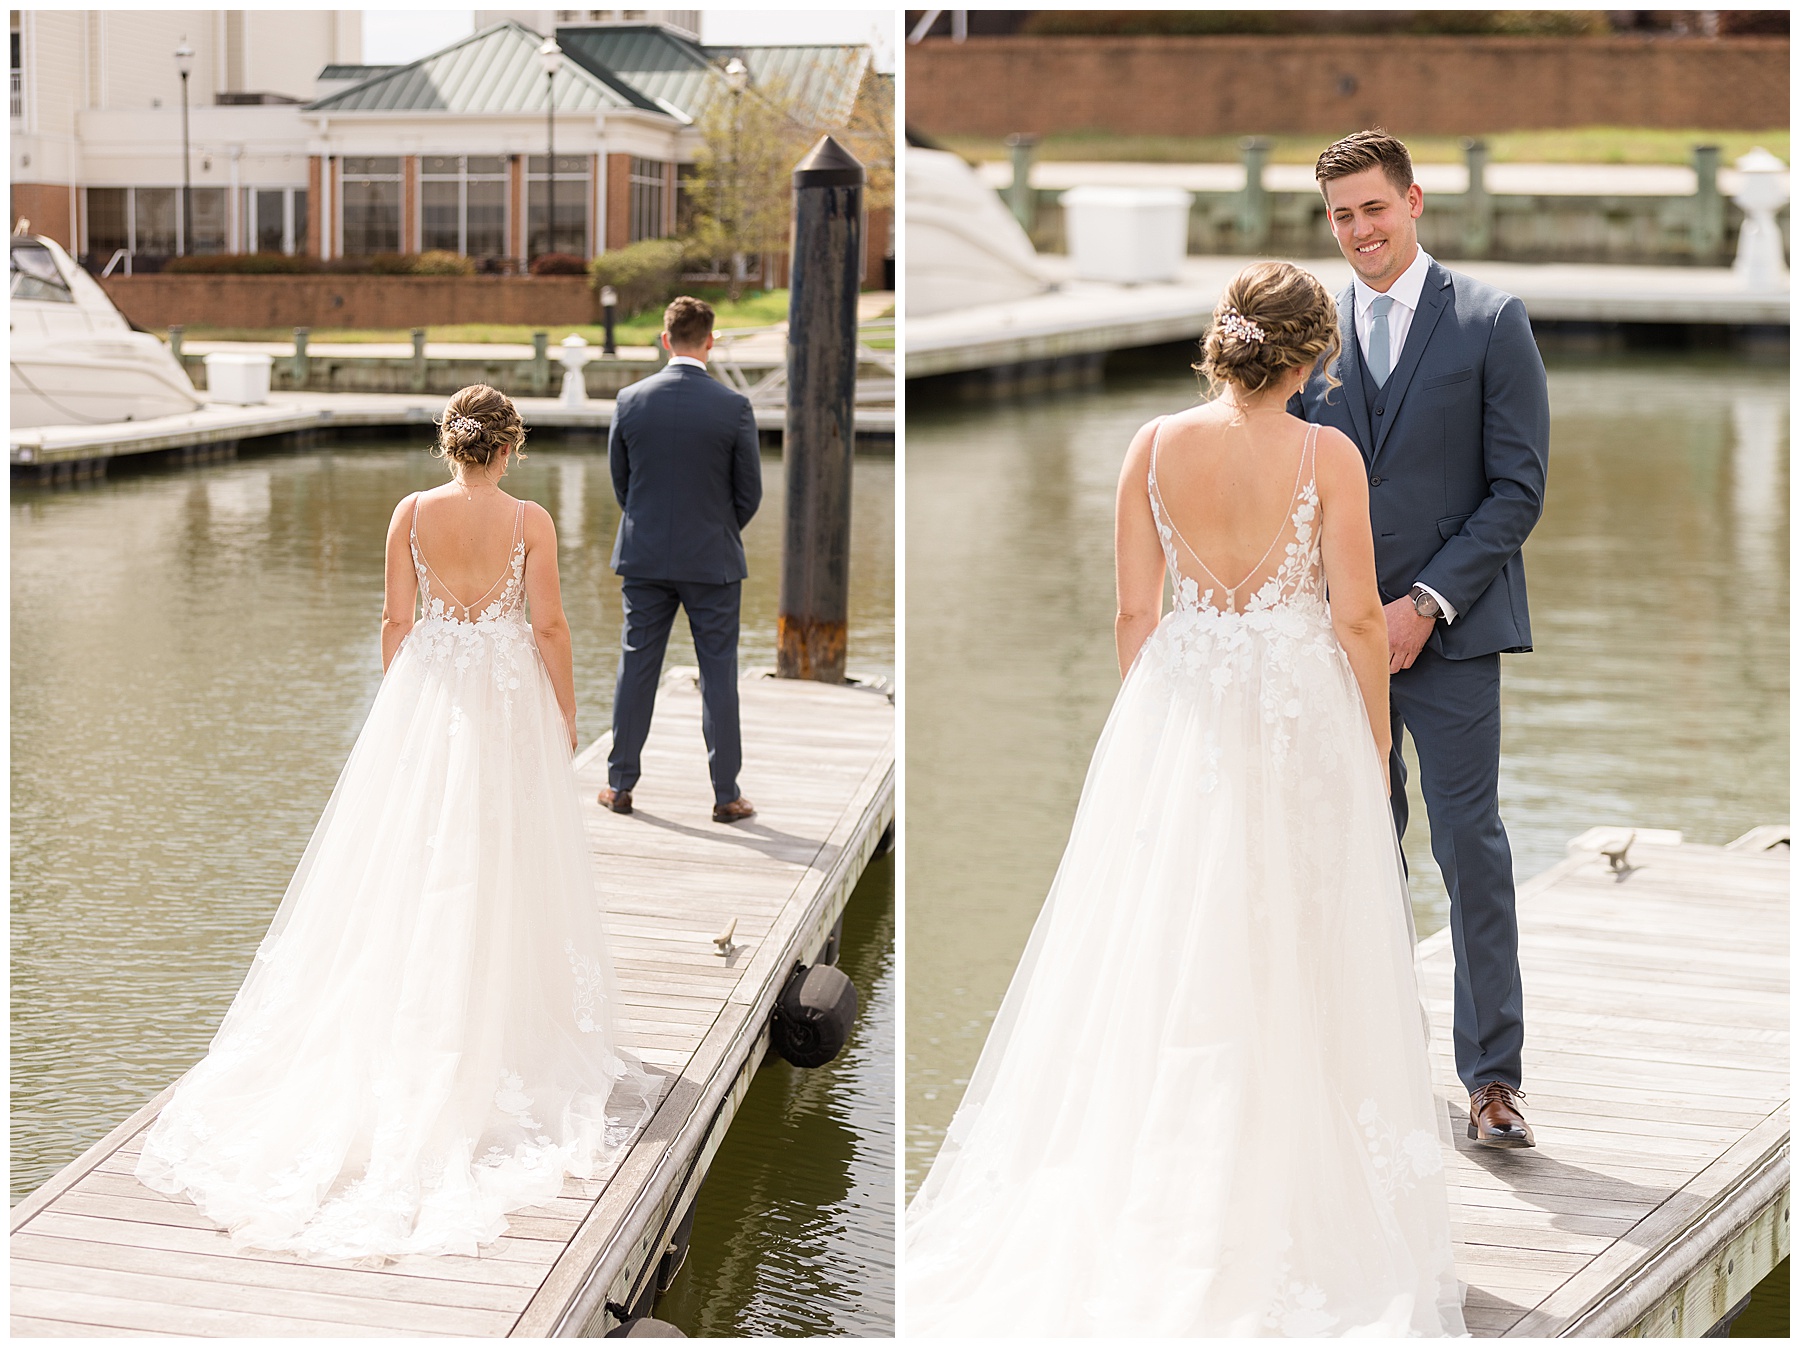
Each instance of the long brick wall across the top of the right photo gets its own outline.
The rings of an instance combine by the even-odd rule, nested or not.
[[[1786,38],[932,38],[907,49],[927,135],[1483,135],[1787,126]]]

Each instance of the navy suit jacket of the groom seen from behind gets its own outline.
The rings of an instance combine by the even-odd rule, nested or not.
[[[740,531],[763,499],[749,398],[698,365],[668,365],[619,391],[607,459],[619,576],[727,585],[749,574]]]

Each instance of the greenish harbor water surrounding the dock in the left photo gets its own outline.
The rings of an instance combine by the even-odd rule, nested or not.
[[[617,506],[601,452],[527,446],[556,520],[581,741],[610,722]],[[418,437],[13,493],[16,1202],[205,1053],[382,677],[389,515]],[[745,531],[742,668],[774,664],[779,457]],[[859,455],[850,668],[895,671],[895,464]],[[677,625],[670,664],[693,664]],[[689,1334],[893,1326],[893,871],[846,914],[862,1010],[830,1067],[772,1062],[702,1193]]]

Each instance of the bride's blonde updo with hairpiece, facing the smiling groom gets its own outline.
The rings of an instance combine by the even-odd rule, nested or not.
[[[1193,367],[1217,391],[1235,383],[1260,392],[1283,371],[1312,369],[1337,355],[1337,304],[1310,272],[1292,263],[1255,263],[1226,286]],[[1325,371],[1327,383],[1339,380]]]

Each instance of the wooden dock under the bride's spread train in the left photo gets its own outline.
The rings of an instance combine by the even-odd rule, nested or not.
[[[14,1335],[574,1337],[648,1314],[684,1218],[769,1044],[776,995],[826,945],[895,808],[891,698],[747,677],[743,792],[711,822],[691,670],[671,670],[635,813],[594,804],[605,740],[576,759],[610,916],[626,1047],[670,1073],[614,1170],[513,1215],[481,1258],[380,1269],[234,1253],[185,1197],[131,1175],[173,1085],[13,1209]],[[736,920],[736,948],[713,938]]]

